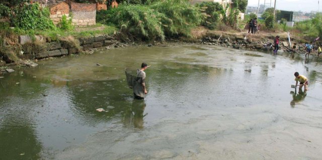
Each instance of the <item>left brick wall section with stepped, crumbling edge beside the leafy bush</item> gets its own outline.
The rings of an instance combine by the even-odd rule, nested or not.
[[[69,12],[69,5],[65,2],[61,2],[57,5],[50,7],[50,18],[52,22],[55,25],[57,25],[61,21],[63,15],[69,17]]]

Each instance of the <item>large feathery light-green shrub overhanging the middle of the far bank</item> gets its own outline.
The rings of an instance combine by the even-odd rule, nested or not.
[[[205,17],[187,0],[159,0],[149,5],[123,3],[117,9],[103,13],[108,15],[102,14],[99,23],[113,23],[130,36],[162,40],[165,36],[191,36],[191,29],[199,26]]]

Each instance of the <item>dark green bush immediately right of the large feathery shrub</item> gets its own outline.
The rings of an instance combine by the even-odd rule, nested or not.
[[[202,22],[201,25],[207,27],[210,30],[216,29],[220,18],[218,12],[222,10],[222,5],[213,2],[203,2],[201,4],[196,4],[196,7],[199,8],[199,11],[204,12],[210,16],[207,17],[207,19]]]

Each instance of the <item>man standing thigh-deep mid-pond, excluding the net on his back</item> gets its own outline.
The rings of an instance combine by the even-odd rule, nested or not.
[[[136,77],[137,81],[133,87],[134,98],[136,99],[144,99],[144,94],[147,94],[146,87],[145,87],[145,70],[147,68],[146,63],[142,63],[141,69],[137,69]]]

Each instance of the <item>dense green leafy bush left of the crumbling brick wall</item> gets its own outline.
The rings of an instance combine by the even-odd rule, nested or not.
[[[49,18],[49,9],[39,7],[39,4],[24,4],[15,9],[15,15],[11,22],[22,30],[46,30],[55,29],[55,25]]]

